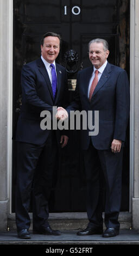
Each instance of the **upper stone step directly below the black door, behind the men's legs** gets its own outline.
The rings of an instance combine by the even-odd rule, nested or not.
[[[32,214],[30,230],[32,230]],[[104,214],[103,214],[104,217]],[[119,222],[121,229],[131,229],[132,216],[129,212],[120,212]],[[86,228],[88,224],[86,212],[60,212],[49,214],[49,224],[52,229],[59,230],[78,230]],[[105,226],[104,226],[105,227]],[[8,230],[16,230],[15,214],[8,217]]]

